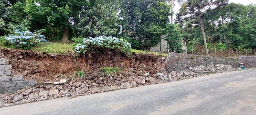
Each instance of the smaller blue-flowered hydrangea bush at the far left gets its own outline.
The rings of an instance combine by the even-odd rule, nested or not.
[[[38,42],[48,43],[44,35],[36,35],[30,31],[21,32],[19,30],[15,30],[14,36],[5,37],[3,42],[18,49],[25,50],[38,46]]]

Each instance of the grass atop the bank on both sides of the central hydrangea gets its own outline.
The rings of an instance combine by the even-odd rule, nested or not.
[[[66,52],[73,52],[72,43],[48,43],[48,44],[42,44],[39,45],[37,48],[31,48],[32,51],[38,51],[38,52],[46,52],[46,53],[56,53],[56,54],[63,54]],[[167,54],[162,53],[159,54],[158,52],[147,52],[147,51],[141,51],[141,50],[135,50],[131,49],[131,52],[135,53],[152,53],[156,55],[163,55],[167,56]]]

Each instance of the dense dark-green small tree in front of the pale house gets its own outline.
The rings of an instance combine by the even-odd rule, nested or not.
[[[165,30],[165,37],[164,39],[167,41],[169,52],[177,52],[182,53],[184,50],[182,47],[182,38],[180,32],[178,31],[178,26],[176,24],[167,24]]]

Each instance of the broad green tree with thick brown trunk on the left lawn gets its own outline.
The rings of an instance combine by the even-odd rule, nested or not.
[[[81,8],[86,5],[86,0],[28,0],[25,11],[30,20],[53,28],[63,28],[61,42],[67,43],[69,42],[68,27],[74,22],[73,19],[78,17]]]

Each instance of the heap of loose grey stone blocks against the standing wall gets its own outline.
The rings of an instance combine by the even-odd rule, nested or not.
[[[216,64],[213,63],[208,64],[206,66],[200,65],[190,67],[189,69],[183,70],[183,71],[172,71],[170,72],[170,75],[177,76],[179,79],[184,78],[191,78],[195,76],[201,76],[206,75],[208,73],[221,73],[221,72],[228,72],[228,71],[236,71],[236,68],[232,68],[231,65],[224,65],[224,64]]]

